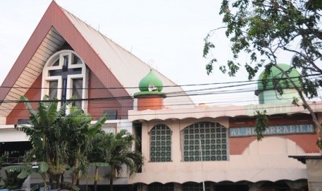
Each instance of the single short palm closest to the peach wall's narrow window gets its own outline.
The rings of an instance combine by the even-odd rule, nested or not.
[[[109,154],[106,156],[110,166],[109,190],[113,191],[113,179],[123,174],[123,165],[127,166],[127,173],[133,176],[143,165],[144,158],[141,152],[132,150],[133,143],[139,140],[126,130],[122,129],[111,138],[108,146]]]

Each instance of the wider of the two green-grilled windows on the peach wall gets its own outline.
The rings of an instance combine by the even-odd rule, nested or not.
[[[197,122],[183,131],[184,161],[228,161],[228,131],[217,122]],[[200,145],[202,146],[200,148]]]

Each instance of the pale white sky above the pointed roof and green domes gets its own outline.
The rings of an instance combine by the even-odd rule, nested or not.
[[[219,15],[219,0],[56,0],[58,5],[73,13],[100,33],[150,64],[186,91],[227,86],[226,82],[246,81],[239,73],[229,78],[220,71],[206,74],[207,59],[202,57],[204,37],[224,26]],[[0,83],[17,60],[51,0],[1,0],[0,6]],[[218,62],[232,57],[229,39],[224,30],[213,35],[214,54]],[[241,57],[246,60],[247,56]],[[285,62],[289,62],[285,60]],[[284,63],[285,63],[284,62]],[[223,84],[215,84],[223,83]],[[208,86],[185,86],[212,84]],[[235,88],[236,89],[236,88]],[[208,91],[206,96],[191,96],[198,103],[238,104],[241,100],[256,102],[252,90],[256,84],[240,87],[247,93],[218,94]],[[243,90],[242,90],[243,89]],[[225,88],[221,88],[225,91]]]

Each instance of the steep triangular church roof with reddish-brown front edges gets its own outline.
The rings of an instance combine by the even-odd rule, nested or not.
[[[42,73],[48,58],[65,42],[82,57],[105,87],[111,87],[111,82],[114,86],[119,84],[119,87],[138,87],[138,82],[150,71],[145,62],[52,1],[1,85],[0,100],[5,101],[0,105],[1,116],[8,116],[16,104],[6,100],[19,100]],[[184,93],[164,75],[155,70],[154,73],[163,82],[164,93]],[[121,93],[124,95],[124,91],[133,96],[138,89],[115,89],[111,93],[117,98]],[[176,103],[180,103],[179,106],[171,107],[195,107],[186,93],[167,98],[164,102],[166,106]]]

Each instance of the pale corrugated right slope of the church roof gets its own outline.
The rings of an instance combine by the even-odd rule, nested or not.
[[[64,10],[65,14],[73,22],[74,26],[80,31],[84,39],[91,44],[100,59],[106,64],[108,69],[113,73],[116,79],[123,87],[138,87],[138,83],[149,73],[151,66],[138,59],[132,53],[119,46],[111,39],[102,35],[84,21],[75,17],[71,12]],[[156,76],[163,82],[163,93],[180,93],[181,96],[169,96],[164,100],[166,106],[174,109],[193,108],[195,104],[184,92],[184,89],[178,87],[175,82],[152,69]],[[138,92],[138,89],[126,89],[130,96]],[[177,104],[180,103],[180,104]]]

